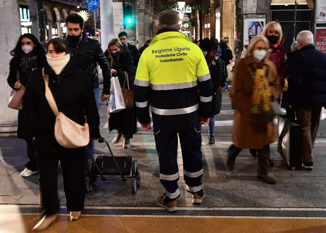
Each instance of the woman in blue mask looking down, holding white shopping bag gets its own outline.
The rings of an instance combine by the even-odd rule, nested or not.
[[[113,77],[118,76],[121,87],[128,74],[129,87],[133,90],[133,82],[135,79],[135,69],[133,59],[127,47],[121,44],[119,39],[112,39],[108,44],[108,49],[104,53],[111,63],[111,74]],[[125,84],[127,88],[127,84]],[[108,112],[109,114],[109,112]],[[130,147],[130,139],[136,133],[136,112],[135,108],[123,109],[117,113],[110,113],[109,120],[110,130],[117,129],[116,137],[113,143],[117,143],[120,138],[124,137],[123,148]]]

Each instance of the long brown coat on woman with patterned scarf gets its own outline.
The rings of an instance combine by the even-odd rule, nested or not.
[[[235,109],[233,141],[239,148],[262,149],[264,145],[276,140],[274,121],[267,124],[259,124],[250,121],[251,98],[253,91],[253,80],[245,65],[245,58],[240,59],[233,71],[232,87],[230,97]],[[266,78],[272,93],[272,101],[276,100],[280,91],[280,79],[275,64],[267,59],[255,62],[252,56],[248,57],[248,63],[254,64],[261,69],[267,66]]]

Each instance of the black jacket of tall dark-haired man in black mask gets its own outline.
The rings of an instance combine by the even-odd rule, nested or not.
[[[106,59],[100,43],[88,38],[84,32],[82,32],[82,42],[80,44],[70,42],[68,37],[66,41],[69,44],[75,65],[87,73],[93,89],[99,87],[97,63],[100,65],[103,74],[103,93],[110,94],[110,63]]]

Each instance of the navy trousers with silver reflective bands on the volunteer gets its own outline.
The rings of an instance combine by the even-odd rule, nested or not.
[[[179,171],[177,163],[178,135],[182,150],[183,177],[190,193],[203,196],[202,181],[202,136],[201,125],[185,130],[155,131],[156,150],[160,163],[160,182],[165,188],[163,203],[169,203],[180,196],[178,188]]]

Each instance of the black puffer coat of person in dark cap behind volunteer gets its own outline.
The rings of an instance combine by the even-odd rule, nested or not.
[[[212,63],[209,66],[210,77],[213,83],[213,99],[212,107],[209,116],[214,116],[221,111],[222,104],[222,75],[223,75],[223,63],[222,58],[215,55]]]

